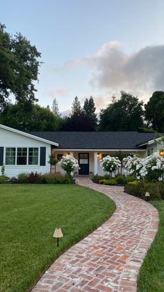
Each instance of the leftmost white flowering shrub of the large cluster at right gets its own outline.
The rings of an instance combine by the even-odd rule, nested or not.
[[[140,158],[134,155],[133,157],[127,156],[123,159],[124,173],[127,176],[136,176],[138,173],[137,165],[140,164]]]

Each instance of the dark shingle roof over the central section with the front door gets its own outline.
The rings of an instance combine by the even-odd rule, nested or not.
[[[154,139],[154,133],[138,132],[30,132],[54,141],[65,149],[138,149],[138,144]]]

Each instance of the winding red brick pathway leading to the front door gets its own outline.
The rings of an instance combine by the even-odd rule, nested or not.
[[[117,205],[112,217],[60,256],[33,292],[137,291],[137,277],[158,229],[158,212],[149,203],[124,194],[122,187],[79,184],[107,194]],[[96,210],[95,210],[96,212]]]

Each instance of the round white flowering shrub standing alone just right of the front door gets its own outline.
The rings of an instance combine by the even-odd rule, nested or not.
[[[121,166],[121,162],[118,157],[111,157],[107,155],[102,160],[100,160],[101,169],[106,172],[113,172]]]

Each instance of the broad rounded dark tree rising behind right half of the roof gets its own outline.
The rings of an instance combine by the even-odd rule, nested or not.
[[[111,103],[100,113],[99,130],[135,131],[143,126],[143,102],[121,91],[119,100]]]

